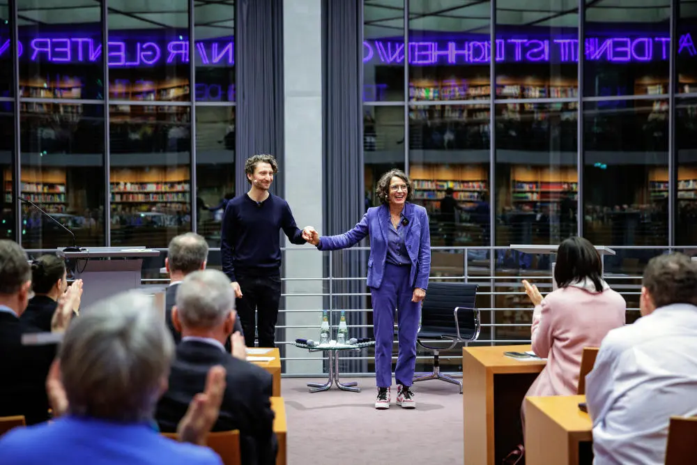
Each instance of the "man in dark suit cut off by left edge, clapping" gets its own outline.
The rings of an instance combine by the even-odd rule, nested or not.
[[[22,344],[22,335],[42,332],[20,321],[29,303],[29,289],[31,267],[26,253],[13,241],[0,241],[0,417],[23,415],[27,425],[34,425],[49,418],[45,383],[56,344]],[[61,298],[52,331],[66,330],[75,297],[69,292]]]

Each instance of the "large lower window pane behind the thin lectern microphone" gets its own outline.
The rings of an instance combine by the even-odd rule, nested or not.
[[[75,233],[78,246],[105,245],[104,106],[24,102],[21,194]],[[22,204],[22,246],[52,249],[72,238]]]

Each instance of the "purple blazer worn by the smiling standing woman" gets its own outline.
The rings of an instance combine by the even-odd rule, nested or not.
[[[431,273],[431,231],[426,208],[420,205],[405,204],[406,225],[404,245],[411,259],[412,287],[427,289]],[[368,287],[380,287],[385,274],[385,260],[388,257],[388,232],[390,228],[390,208],[387,205],[368,208],[362,220],[351,231],[337,236],[321,236],[319,250],[339,250],[356,245],[362,238],[370,235],[370,256],[368,257]]]

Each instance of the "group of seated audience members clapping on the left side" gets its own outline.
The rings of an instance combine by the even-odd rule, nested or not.
[[[210,455],[178,449],[157,434],[181,437],[189,428],[195,436],[190,442],[205,443],[201,425],[206,432],[238,429],[243,463],[275,463],[272,376],[245,360],[231,282],[220,271],[204,269],[207,254],[197,234],[171,242],[167,323],[149,296],[133,291],[102,300],[70,324],[82,282],[66,292],[62,262],[42,257],[30,266],[19,245],[0,241],[0,351],[10,355],[0,361],[10,380],[0,384],[0,416],[24,415],[36,425],[49,418],[51,400],[57,419],[50,429],[36,425],[3,436],[0,464],[6,458],[26,464],[218,463],[217,456],[211,462]],[[31,302],[38,298],[40,305],[31,318],[22,318],[32,277],[40,279]],[[46,329],[47,314],[54,333],[70,324],[53,367],[55,344],[22,343],[23,335]],[[181,341],[176,349],[175,338]],[[108,440],[79,441],[95,431]],[[38,436],[40,446],[27,447]],[[119,452],[110,456],[108,448]]]

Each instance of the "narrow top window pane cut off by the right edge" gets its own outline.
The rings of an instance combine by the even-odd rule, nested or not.
[[[677,93],[697,93],[697,49],[692,33],[697,25],[697,3],[694,0],[680,0],[678,3],[677,56]]]

